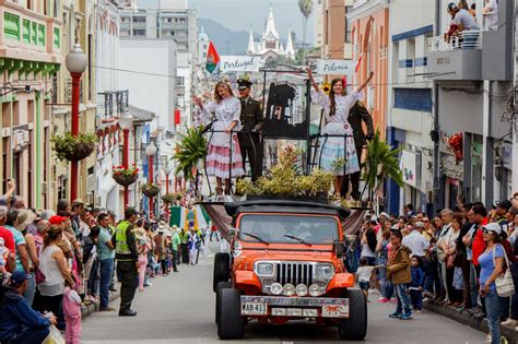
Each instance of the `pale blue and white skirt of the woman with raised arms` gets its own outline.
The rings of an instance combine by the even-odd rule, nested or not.
[[[349,123],[344,128],[341,123],[328,123],[323,127],[321,132],[321,149],[318,153],[319,166],[323,170],[333,171],[337,176],[351,175],[360,171],[360,163],[356,154],[356,146],[352,138],[352,130]],[[348,138],[325,137],[329,135],[345,135]],[[337,166],[339,159],[345,159],[345,166]]]

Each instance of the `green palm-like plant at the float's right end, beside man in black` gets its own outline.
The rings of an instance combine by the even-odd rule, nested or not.
[[[373,200],[374,191],[384,179],[389,178],[399,187],[403,186],[403,176],[398,157],[400,152],[401,149],[392,149],[386,141],[381,141],[378,130],[374,139],[367,143],[364,178],[368,187],[370,201]]]

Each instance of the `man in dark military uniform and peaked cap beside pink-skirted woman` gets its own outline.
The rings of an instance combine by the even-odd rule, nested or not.
[[[260,132],[264,118],[262,116],[261,104],[250,97],[252,83],[246,79],[237,80],[239,98],[242,102],[242,124],[243,132],[238,133],[239,147],[242,150],[243,162],[248,162],[251,168],[251,180],[257,180],[262,175],[262,142]]]

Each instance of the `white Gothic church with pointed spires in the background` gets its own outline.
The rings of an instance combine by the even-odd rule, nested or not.
[[[262,63],[269,63],[269,61],[278,58],[285,58],[287,60],[295,59],[292,32],[287,32],[286,46],[284,47],[280,40],[279,32],[275,28],[272,8],[270,8],[270,12],[268,13],[267,26],[259,41],[255,40],[254,32],[250,29],[247,55],[259,57]]]

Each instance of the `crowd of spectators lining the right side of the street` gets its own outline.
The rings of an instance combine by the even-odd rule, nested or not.
[[[518,193],[488,209],[459,200],[434,217],[411,204],[400,216],[370,212],[360,235],[348,238],[345,263],[356,271],[361,262],[360,286],[377,289],[380,303],[397,304],[390,318],[412,319],[423,301],[451,307],[487,319],[487,341],[496,344],[501,325],[518,330],[518,294],[503,296],[495,284],[509,270],[514,283],[507,283],[518,286],[517,215]],[[366,274],[365,266],[376,273]]]

